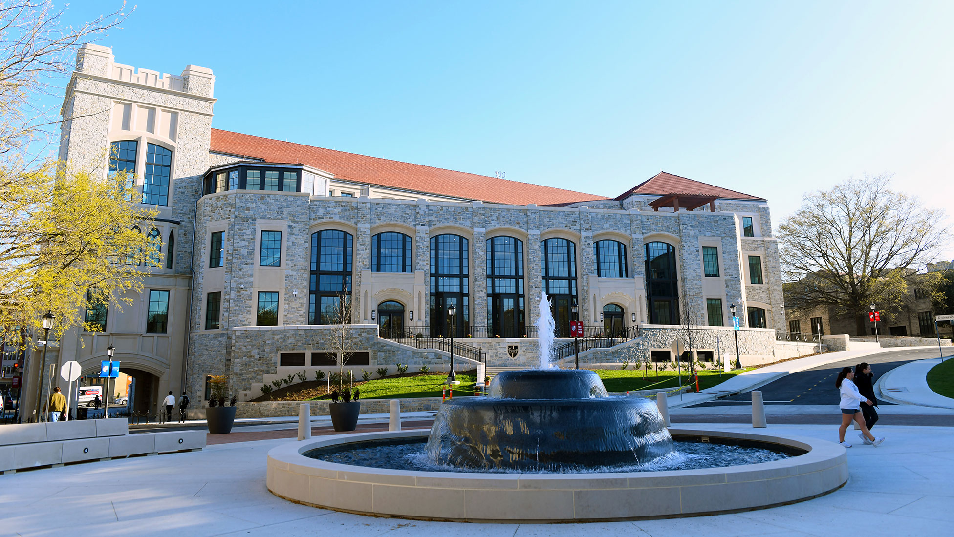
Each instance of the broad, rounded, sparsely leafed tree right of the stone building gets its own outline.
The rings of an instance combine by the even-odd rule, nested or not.
[[[805,194],[779,226],[786,306],[828,307],[854,317],[864,333],[870,305],[908,307],[917,268],[934,259],[947,237],[943,221],[943,211],[890,189],[885,175]]]

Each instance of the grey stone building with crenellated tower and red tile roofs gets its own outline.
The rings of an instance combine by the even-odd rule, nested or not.
[[[62,346],[93,370],[114,345],[142,408],[168,390],[202,401],[212,374],[249,398],[277,376],[330,370],[323,323],[342,293],[364,353],[352,368],[446,370],[446,352],[399,332],[453,330],[487,367],[514,362],[512,341],[524,360],[543,291],[563,337],[570,320],[588,335],[686,319],[725,334],[731,305],[741,328],[784,324],[762,198],[666,172],[606,198],[213,129],[214,87],[212,70],[160,75],[87,45],[63,106],[61,157],[133,170],[159,209],[163,268],[144,268],[146,289],[110,309],[105,331]]]

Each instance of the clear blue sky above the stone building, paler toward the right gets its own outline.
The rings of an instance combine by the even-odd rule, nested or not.
[[[164,0],[99,43],[214,70],[218,129],[606,196],[666,170],[778,225],[865,173],[951,205],[952,23],[951,1]]]

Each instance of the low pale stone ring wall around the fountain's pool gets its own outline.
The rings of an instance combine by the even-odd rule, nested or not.
[[[268,452],[267,486],[305,505],[375,516],[541,523],[666,518],[773,507],[814,498],[848,479],[844,447],[805,437],[670,428],[695,441],[798,449],[796,457],[736,467],[620,473],[414,471],[329,463],[303,453],[374,440],[425,438],[426,429],[338,435]]]

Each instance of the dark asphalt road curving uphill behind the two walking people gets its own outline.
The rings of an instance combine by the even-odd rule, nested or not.
[[[949,352],[949,349],[945,349],[944,354],[947,355]],[[765,401],[766,405],[837,405],[840,395],[839,389],[835,388],[835,379],[838,377],[841,368],[845,366],[854,368],[860,362],[867,362],[871,364],[871,371],[875,374],[874,382],[878,382],[881,375],[893,368],[915,360],[937,358],[937,356],[937,348],[901,348],[891,352],[853,358],[799,371],[758,389],[762,391],[762,400]],[[751,403],[751,394],[740,393],[711,403],[695,405],[695,407],[721,407],[733,404],[749,405]],[[890,405],[890,403],[880,401],[879,405],[885,406]]]

